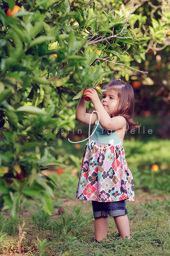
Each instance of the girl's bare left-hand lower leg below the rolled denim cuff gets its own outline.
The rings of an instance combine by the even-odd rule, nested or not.
[[[107,237],[108,217],[95,218],[95,238],[100,241]]]

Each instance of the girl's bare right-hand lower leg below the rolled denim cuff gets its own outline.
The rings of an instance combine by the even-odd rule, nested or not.
[[[128,236],[128,239],[130,239],[130,227],[127,214],[116,216],[114,217],[114,220],[121,238],[124,239],[125,236]]]

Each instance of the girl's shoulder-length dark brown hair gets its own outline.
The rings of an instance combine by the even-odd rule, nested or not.
[[[113,89],[116,91],[119,98],[119,106],[114,116],[123,116],[126,119],[126,132],[139,127],[138,123],[133,120],[135,99],[132,86],[115,79],[104,86],[104,89]],[[113,115],[111,117],[113,117]]]

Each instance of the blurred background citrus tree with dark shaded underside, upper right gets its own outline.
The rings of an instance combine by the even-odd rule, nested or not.
[[[104,1],[103,4],[115,8],[117,15],[129,14],[131,1]],[[98,4],[98,9],[103,6]],[[140,51],[134,51],[130,56],[122,55],[120,62],[126,66],[148,71],[147,77],[132,69],[108,63],[109,71],[116,78],[130,81],[135,92],[137,115],[170,115],[170,12],[169,1],[165,0],[134,0],[133,13],[130,16],[129,28],[140,27],[140,33],[147,39],[141,44]],[[167,126],[169,133],[169,116],[163,119],[162,126]],[[164,136],[162,136],[164,137]],[[166,135],[168,138],[169,136]]]

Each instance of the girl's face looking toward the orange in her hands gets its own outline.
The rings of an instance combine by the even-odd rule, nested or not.
[[[101,103],[110,116],[116,113],[119,106],[119,98],[116,91],[114,89],[104,91]]]

